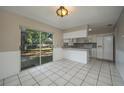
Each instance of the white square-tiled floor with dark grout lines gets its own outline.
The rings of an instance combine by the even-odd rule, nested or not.
[[[123,86],[111,62],[92,59],[84,65],[62,59],[0,80],[1,86]]]

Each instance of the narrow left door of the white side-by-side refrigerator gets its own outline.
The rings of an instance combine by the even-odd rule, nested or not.
[[[103,37],[97,37],[97,58],[103,59]]]

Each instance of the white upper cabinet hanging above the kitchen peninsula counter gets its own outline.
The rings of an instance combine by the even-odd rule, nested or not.
[[[87,37],[87,29],[74,31],[74,32],[67,32],[63,34],[64,39],[81,38],[81,37]]]

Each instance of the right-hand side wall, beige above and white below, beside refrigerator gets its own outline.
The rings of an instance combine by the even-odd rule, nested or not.
[[[115,27],[115,45],[116,66],[124,79],[124,10]]]

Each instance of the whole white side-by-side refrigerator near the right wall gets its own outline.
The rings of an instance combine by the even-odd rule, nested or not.
[[[113,61],[113,35],[97,37],[97,58]]]

